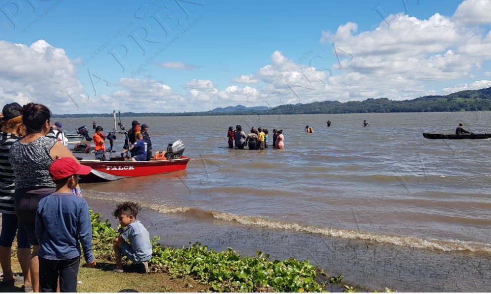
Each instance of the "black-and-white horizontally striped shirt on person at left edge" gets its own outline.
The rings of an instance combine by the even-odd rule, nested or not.
[[[10,147],[18,138],[11,133],[0,133],[0,212],[5,214],[15,214],[15,174],[12,165],[8,161],[8,153]]]

